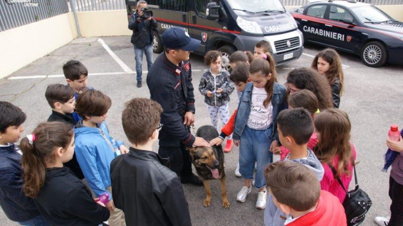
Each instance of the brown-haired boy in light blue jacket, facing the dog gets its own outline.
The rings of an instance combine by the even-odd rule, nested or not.
[[[107,112],[112,104],[111,99],[98,90],[87,90],[80,93],[76,102],[76,112],[83,119],[74,129],[76,156],[95,195],[109,193],[109,201],[105,206],[111,211],[108,219],[110,225],[124,225],[124,214],[114,207],[110,182],[110,163],[115,157],[115,149],[127,153],[121,141],[109,136],[105,123]]]

